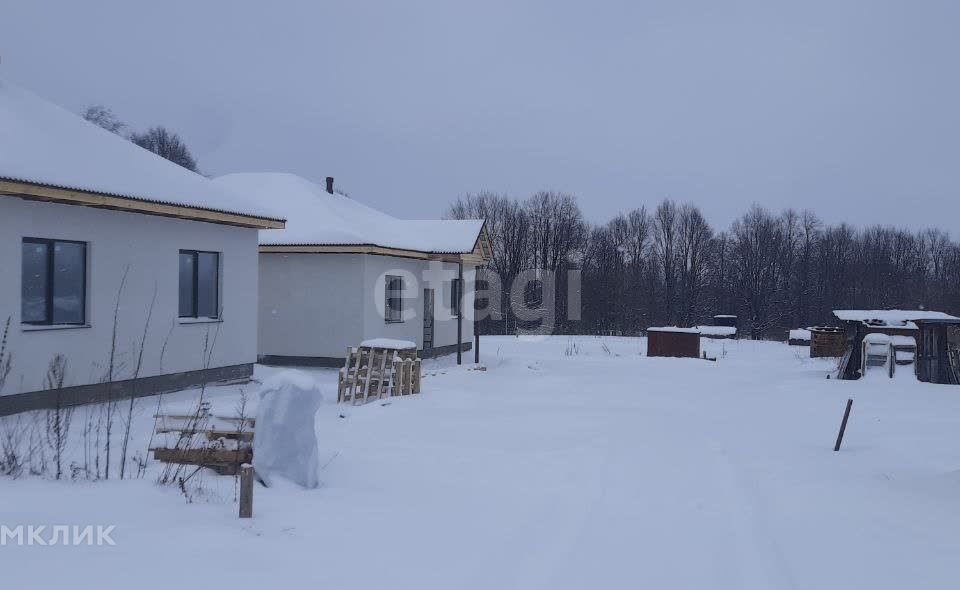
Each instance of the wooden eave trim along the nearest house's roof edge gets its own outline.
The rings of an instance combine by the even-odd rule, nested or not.
[[[0,178],[0,195],[11,195],[33,201],[47,201],[67,205],[80,205],[115,211],[128,211],[161,217],[175,217],[191,221],[206,221],[225,225],[236,225],[255,229],[283,229],[286,225],[281,219],[227,213],[189,205],[171,205],[156,201],[145,201],[128,197],[118,197],[91,191],[57,188],[42,184],[5,180]]]

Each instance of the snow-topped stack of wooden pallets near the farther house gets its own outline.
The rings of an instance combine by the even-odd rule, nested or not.
[[[337,401],[353,404],[420,393],[417,349],[358,346],[347,349],[340,369]]]

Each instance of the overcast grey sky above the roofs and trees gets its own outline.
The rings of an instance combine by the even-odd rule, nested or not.
[[[958,29],[952,1],[3,0],[0,75],[400,217],[555,189],[593,221],[669,196],[950,229]]]

